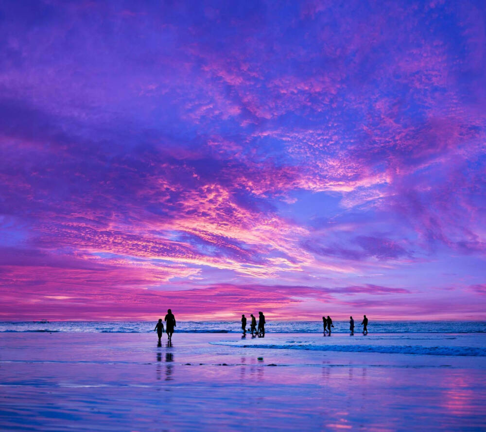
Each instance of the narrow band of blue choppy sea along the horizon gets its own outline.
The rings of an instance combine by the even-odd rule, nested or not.
[[[360,332],[360,321],[355,320],[355,332]],[[147,333],[153,331],[154,322],[2,322],[0,332],[94,332],[94,333]],[[322,333],[322,322],[268,321],[267,333]],[[240,333],[237,321],[178,322],[176,332],[183,333]],[[333,332],[348,333],[349,323],[335,321]],[[477,321],[376,321],[368,323],[370,333],[486,333],[486,322]]]

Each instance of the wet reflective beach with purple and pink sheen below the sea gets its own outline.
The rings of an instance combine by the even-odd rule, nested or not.
[[[486,430],[484,333],[166,339],[0,333],[0,429]]]

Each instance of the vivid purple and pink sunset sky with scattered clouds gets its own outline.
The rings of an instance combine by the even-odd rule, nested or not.
[[[0,3],[0,320],[485,319],[483,1]]]

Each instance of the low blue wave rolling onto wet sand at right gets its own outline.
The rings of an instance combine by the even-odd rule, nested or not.
[[[232,341],[210,342],[210,344],[234,346],[239,348],[299,349],[307,351],[376,352],[383,354],[486,357],[486,348],[474,346],[235,344]]]

